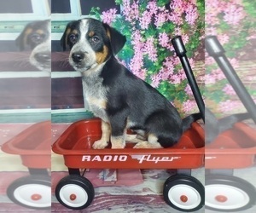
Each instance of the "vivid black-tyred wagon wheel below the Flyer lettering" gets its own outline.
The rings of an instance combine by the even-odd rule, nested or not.
[[[169,177],[165,182],[163,194],[166,203],[176,210],[195,211],[204,205],[204,187],[193,176]]]

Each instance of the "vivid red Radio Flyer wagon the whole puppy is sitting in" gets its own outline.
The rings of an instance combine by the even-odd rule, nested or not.
[[[177,47],[183,44],[181,37],[172,42]],[[189,66],[185,51],[179,56]],[[189,74],[193,78],[189,83],[196,87],[193,73]],[[200,94],[197,87],[194,90]],[[202,112],[204,106],[200,109]],[[186,212],[199,210],[204,205],[204,187],[190,176],[191,169],[204,164],[204,130],[200,124],[192,124],[175,146],[165,149],[134,149],[134,144],[128,141],[124,149],[94,150],[92,145],[101,135],[101,120],[91,118],[71,124],[53,144],[53,152],[63,155],[69,171],[69,176],[62,178],[55,187],[56,199],[61,204],[81,210],[94,199],[94,187],[80,174],[80,169],[177,169],[177,175],[169,177],[164,184],[166,203]]]

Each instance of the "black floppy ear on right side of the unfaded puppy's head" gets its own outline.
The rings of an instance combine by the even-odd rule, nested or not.
[[[113,27],[108,26],[108,24],[103,24],[103,26],[105,27],[107,35],[110,38],[113,55],[116,55],[124,47],[126,37],[115,30]]]

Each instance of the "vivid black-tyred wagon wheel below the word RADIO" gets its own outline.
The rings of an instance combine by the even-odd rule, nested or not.
[[[58,201],[72,210],[82,210],[94,199],[94,187],[84,176],[66,176],[55,188]]]

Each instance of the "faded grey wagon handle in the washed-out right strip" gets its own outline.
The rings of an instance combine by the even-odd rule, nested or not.
[[[236,91],[236,94],[240,98],[242,104],[246,107],[247,112],[249,112],[251,118],[253,118],[253,121],[256,124],[256,105],[243,83],[241,83],[241,79],[236,74],[233,66],[231,66],[230,61],[224,55],[225,50],[218,42],[218,38],[216,36],[206,37],[206,49],[208,54],[216,60],[218,66],[222,72],[224,72],[225,77]]]

